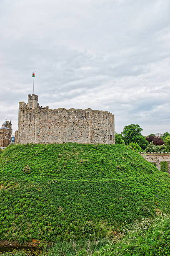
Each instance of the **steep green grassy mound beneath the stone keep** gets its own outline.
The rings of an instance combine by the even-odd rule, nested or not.
[[[119,144],[9,146],[0,181],[0,240],[105,238],[170,211],[168,174]]]

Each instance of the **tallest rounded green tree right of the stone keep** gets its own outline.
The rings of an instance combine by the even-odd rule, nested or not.
[[[145,149],[149,143],[146,141],[146,138],[142,135],[141,131],[143,131],[143,129],[138,124],[130,124],[125,126],[122,132],[125,144],[134,142],[138,143],[142,149]]]

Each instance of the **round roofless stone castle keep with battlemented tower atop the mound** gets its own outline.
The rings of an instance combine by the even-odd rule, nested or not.
[[[38,104],[38,96],[28,95],[28,104],[19,102],[16,143],[90,144],[115,143],[114,115],[107,111],[49,109]]]

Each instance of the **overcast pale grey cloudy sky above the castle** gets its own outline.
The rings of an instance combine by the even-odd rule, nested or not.
[[[0,0],[0,122],[14,131],[34,68],[40,106],[170,132],[170,0]]]

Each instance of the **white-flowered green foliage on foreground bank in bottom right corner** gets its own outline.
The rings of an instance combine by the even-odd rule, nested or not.
[[[169,256],[170,215],[143,219],[124,228],[93,256]]]

